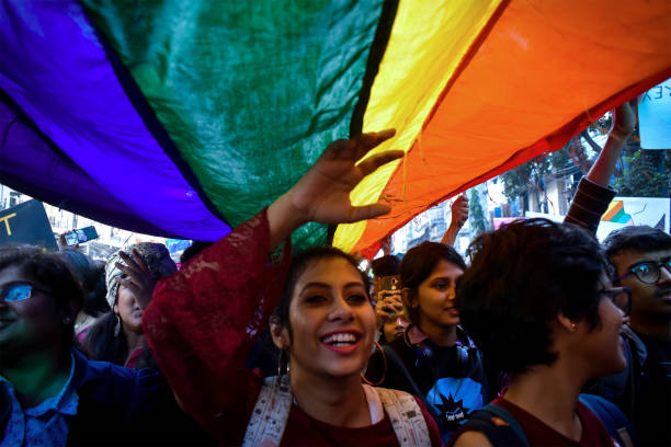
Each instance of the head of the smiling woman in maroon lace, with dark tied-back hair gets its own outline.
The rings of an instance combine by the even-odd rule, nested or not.
[[[312,249],[293,260],[272,334],[288,351],[296,380],[304,368],[331,376],[361,371],[375,335],[367,290],[367,276],[338,249]]]

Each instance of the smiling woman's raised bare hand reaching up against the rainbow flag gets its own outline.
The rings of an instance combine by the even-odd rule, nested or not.
[[[309,221],[349,224],[389,213],[389,206],[380,203],[352,206],[350,193],[377,168],[403,156],[401,150],[390,150],[356,164],[395,134],[396,130],[387,129],[329,145],[303,179],[269,207],[271,247]]]

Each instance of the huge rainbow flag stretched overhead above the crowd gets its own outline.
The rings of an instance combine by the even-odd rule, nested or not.
[[[0,48],[0,182],[128,230],[216,240],[397,128],[351,194],[391,213],[294,236],[369,254],[670,78],[671,2],[7,0]]]

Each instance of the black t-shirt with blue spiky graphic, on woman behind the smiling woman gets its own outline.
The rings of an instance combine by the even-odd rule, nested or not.
[[[387,343],[387,349],[393,348],[398,354],[433,414],[437,415],[436,422],[445,440],[471,412],[488,402],[489,394],[480,353],[462,330],[458,335],[459,342],[453,346],[437,346],[429,339],[411,344],[408,334]],[[401,368],[396,367],[388,355],[386,362],[385,370],[383,353],[375,351],[368,360],[366,379],[384,388],[416,394]]]

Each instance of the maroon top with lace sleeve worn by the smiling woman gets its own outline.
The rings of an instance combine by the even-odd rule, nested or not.
[[[240,445],[244,437],[262,379],[243,365],[280,299],[288,251],[271,256],[262,211],[161,279],[145,310],[145,334],[161,371],[182,408],[220,444]],[[419,403],[432,444],[441,446],[435,422]],[[386,414],[377,424],[345,428],[296,405],[282,444],[398,445]]]

